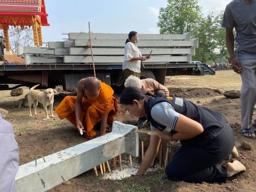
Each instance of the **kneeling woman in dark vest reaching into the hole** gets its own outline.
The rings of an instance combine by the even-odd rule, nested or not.
[[[167,165],[169,179],[187,182],[225,182],[227,177],[245,171],[238,161],[218,165],[230,154],[238,157],[234,134],[225,117],[180,98],[150,97],[134,87],[126,87],[120,97],[122,107],[136,117],[147,116],[151,131],[149,147],[137,175],[141,175],[156,157],[162,140],[181,142],[181,147]]]

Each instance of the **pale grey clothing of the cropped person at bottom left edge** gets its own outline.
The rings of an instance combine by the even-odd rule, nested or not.
[[[19,148],[12,124],[0,114],[0,191],[16,191],[15,175],[19,169]]]

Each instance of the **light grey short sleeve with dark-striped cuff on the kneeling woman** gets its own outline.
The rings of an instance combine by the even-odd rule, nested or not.
[[[168,102],[156,103],[151,109],[151,117],[159,124],[166,126],[164,132],[171,132],[175,129],[179,113],[177,113],[173,106]],[[150,125],[152,131],[158,129]]]

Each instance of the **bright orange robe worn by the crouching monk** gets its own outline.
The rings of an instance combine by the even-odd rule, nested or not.
[[[93,127],[101,121],[101,115],[108,114],[107,123],[109,126],[112,126],[113,119],[117,114],[117,101],[113,96],[113,89],[101,81],[100,86],[100,94],[97,98],[87,98],[84,95],[81,103],[79,119],[83,123],[84,130],[86,131],[85,136],[88,139],[97,135]],[[76,126],[75,102],[76,97],[67,96],[61,101],[55,112],[60,119],[67,118],[68,121]]]

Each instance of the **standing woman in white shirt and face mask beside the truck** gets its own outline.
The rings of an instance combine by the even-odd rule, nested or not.
[[[130,75],[134,75],[140,78],[140,67],[141,62],[149,59],[147,55],[142,57],[142,54],[136,43],[139,42],[139,35],[136,31],[131,31],[126,39],[124,47],[124,61],[123,61],[123,72],[124,78],[126,79]]]

